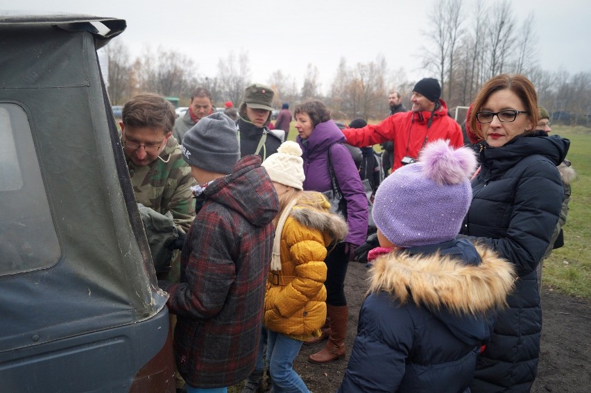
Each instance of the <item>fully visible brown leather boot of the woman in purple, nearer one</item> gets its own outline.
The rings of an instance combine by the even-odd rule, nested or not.
[[[347,337],[347,320],[349,308],[347,306],[326,305],[330,317],[330,335],[325,347],[308,356],[308,361],[321,365],[345,357],[345,337]]]

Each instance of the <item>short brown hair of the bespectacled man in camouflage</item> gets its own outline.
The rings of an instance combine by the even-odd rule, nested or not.
[[[158,94],[138,94],[123,105],[121,121],[126,127],[162,128],[168,134],[174,127],[174,107]]]

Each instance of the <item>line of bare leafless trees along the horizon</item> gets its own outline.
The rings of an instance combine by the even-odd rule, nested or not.
[[[536,86],[540,105],[547,107],[553,121],[588,125],[591,116],[591,72],[572,75],[568,71],[547,71],[540,64],[536,23],[532,13],[522,21],[515,17],[511,2],[441,0],[431,10],[429,30],[422,31],[421,48],[425,76],[438,78],[442,98],[449,108],[467,106],[479,87],[499,73],[522,73]],[[198,73],[198,64],[189,56],[170,49],[146,49],[132,59],[127,46],[115,38],[106,46],[109,64],[108,91],[111,102],[121,104],[140,91],[154,91],[188,103],[191,91],[209,89],[214,104],[241,101],[250,78],[248,53],[230,52],[218,60],[216,75]],[[545,55],[550,55],[547,51]],[[283,102],[294,105],[318,98],[331,108],[336,119],[383,119],[388,114],[387,96],[400,91],[409,107],[416,81],[406,78],[404,68],[390,69],[383,55],[375,60],[348,64],[341,58],[328,96],[320,92],[318,68],[308,64],[299,84],[280,69],[266,81],[275,90],[275,107]]]

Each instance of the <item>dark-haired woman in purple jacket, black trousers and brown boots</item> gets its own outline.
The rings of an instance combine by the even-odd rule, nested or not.
[[[347,225],[349,234],[345,240],[329,247],[325,259],[327,279],[327,323],[323,328],[326,346],[309,356],[311,363],[328,363],[345,356],[345,337],[349,311],[345,299],[345,274],[353,251],[362,244],[368,229],[368,200],[361,178],[349,150],[343,146],[345,136],[330,119],[330,112],[320,101],[307,101],[295,107],[296,141],[302,148],[304,189],[329,191],[332,189],[329,173],[328,151],[339,188],[347,202]],[[334,247],[333,247],[334,246]],[[310,342],[309,342],[310,343]]]

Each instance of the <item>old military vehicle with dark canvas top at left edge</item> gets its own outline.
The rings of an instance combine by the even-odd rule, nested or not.
[[[0,15],[2,392],[175,390],[167,295],[96,55],[125,28]]]

